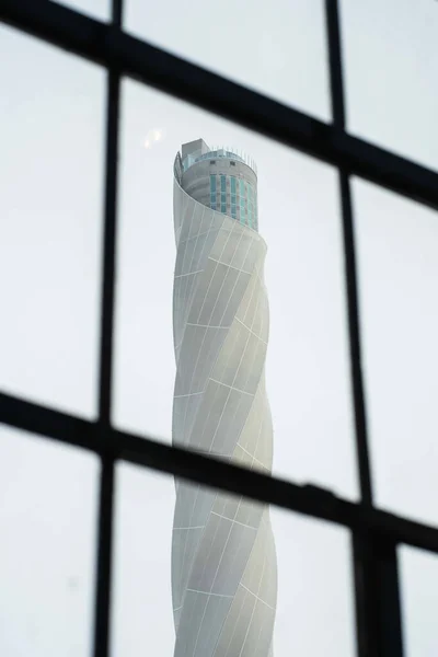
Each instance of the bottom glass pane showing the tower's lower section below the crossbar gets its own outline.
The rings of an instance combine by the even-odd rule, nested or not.
[[[171,477],[117,469],[112,657],[355,654],[348,532],[176,491],[174,515]]]

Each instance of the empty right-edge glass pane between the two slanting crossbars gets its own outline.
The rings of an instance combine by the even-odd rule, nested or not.
[[[377,502],[438,522],[438,215],[354,181]]]

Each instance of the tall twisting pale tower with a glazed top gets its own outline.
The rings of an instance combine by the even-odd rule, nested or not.
[[[270,473],[266,244],[254,164],[198,139],[174,164],[173,443]],[[268,510],[176,481],[174,657],[269,657],[277,598]]]

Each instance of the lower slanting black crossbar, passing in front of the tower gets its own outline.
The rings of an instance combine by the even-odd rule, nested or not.
[[[113,458],[174,474],[206,486],[372,532],[393,543],[438,552],[438,529],[335,496],[313,485],[297,485],[189,450],[105,428],[0,393],[0,423]]]

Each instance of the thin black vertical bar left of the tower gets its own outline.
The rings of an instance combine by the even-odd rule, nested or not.
[[[114,30],[120,28],[122,12],[123,0],[113,0],[112,27]],[[102,439],[107,441],[110,441],[107,429],[111,425],[113,374],[119,103],[120,74],[117,67],[113,65],[107,71],[106,94],[105,204],[99,380],[99,426]],[[105,447],[107,449],[104,450],[101,458],[99,497],[94,657],[107,657],[110,654],[115,454],[112,445],[107,443]]]

